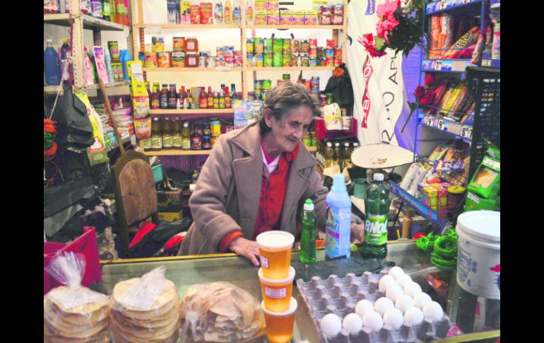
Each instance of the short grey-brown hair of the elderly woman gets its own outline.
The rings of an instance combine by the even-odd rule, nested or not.
[[[274,119],[281,120],[285,114],[295,110],[300,106],[308,106],[312,110],[312,116],[319,116],[318,104],[310,97],[306,88],[300,83],[285,82],[282,86],[274,87],[266,93],[266,100],[261,106],[261,111],[257,118],[261,135],[271,131],[264,120],[264,110],[269,108],[272,111]]]

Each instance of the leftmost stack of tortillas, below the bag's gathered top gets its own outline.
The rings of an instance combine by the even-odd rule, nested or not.
[[[44,297],[44,342],[104,343],[110,299],[81,287],[60,286]]]

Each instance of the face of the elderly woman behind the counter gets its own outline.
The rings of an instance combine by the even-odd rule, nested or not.
[[[290,110],[280,120],[276,120],[272,112],[268,112],[268,115],[265,114],[265,120],[268,127],[272,129],[268,134],[276,147],[281,151],[291,152],[312,123],[312,110],[302,105]]]

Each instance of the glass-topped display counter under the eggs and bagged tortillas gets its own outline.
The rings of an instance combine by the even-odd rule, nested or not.
[[[326,261],[324,249],[317,251],[317,261],[314,264],[301,264],[299,252],[294,251],[291,264],[297,270],[295,280],[302,278],[307,281],[315,275],[326,278],[331,274],[345,277],[345,274],[349,272],[360,275],[366,271],[379,272],[383,267],[397,265],[402,267],[413,281],[418,282],[422,290],[429,293],[434,301],[440,303],[451,321],[456,322],[465,332],[463,335],[447,337],[441,342],[495,343],[499,338],[500,330],[473,332],[474,327],[478,328],[478,325],[475,325],[478,321],[478,318],[475,319],[475,297],[457,286],[454,271],[441,271],[434,267],[430,263],[429,255],[416,248],[415,240],[388,243],[388,255],[385,261],[362,260],[357,252],[354,252],[349,260]],[[255,267],[247,258],[234,254],[101,261],[102,284],[93,286],[93,289],[110,294],[117,282],[141,277],[161,265],[166,267],[165,277],[178,287],[180,298],[184,296],[191,285],[227,281],[248,291],[259,302],[262,300],[261,286],[257,276],[259,268]],[[312,343],[319,342],[319,334],[296,285],[293,286],[292,294],[299,304],[295,314],[292,342],[302,340]],[[500,318],[500,308],[498,307],[497,312],[496,303],[494,305],[494,315],[489,315],[488,317],[491,319],[487,318],[487,322],[492,322],[492,327],[499,329],[497,313]]]

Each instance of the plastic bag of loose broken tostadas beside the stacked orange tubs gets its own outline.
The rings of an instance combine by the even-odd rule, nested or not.
[[[259,302],[228,282],[191,286],[181,313],[182,342],[245,342],[264,334]]]

